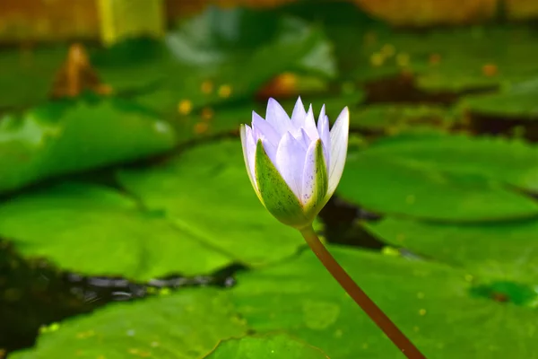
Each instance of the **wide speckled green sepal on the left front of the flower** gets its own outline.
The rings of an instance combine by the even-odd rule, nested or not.
[[[256,144],[256,183],[265,208],[280,222],[296,228],[312,223],[303,214],[299,198],[295,196],[280,172],[265,153],[262,140]]]

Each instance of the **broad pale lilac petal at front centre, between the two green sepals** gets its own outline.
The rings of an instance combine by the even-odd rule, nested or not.
[[[299,200],[306,155],[306,150],[289,132],[282,137],[276,150],[276,168]]]

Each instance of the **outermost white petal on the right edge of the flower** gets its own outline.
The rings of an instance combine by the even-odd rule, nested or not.
[[[343,166],[347,155],[348,136],[350,132],[350,112],[346,107],[342,110],[334,126],[331,129],[331,152],[330,152],[330,168],[329,168],[329,188],[327,196],[333,195],[334,190],[338,186],[338,182],[342,178]]]

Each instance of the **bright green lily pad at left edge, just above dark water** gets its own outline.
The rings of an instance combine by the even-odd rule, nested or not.
[[[87,276],[195,276],[232,258],[111,188],[63,183],[0,204],[0,236],[27,258]]]

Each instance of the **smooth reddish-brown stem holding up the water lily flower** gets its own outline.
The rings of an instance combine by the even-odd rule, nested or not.
[[[419,349],[405,337],[404,333],[395,326],[395,323],[390,320],[386,314],[377,307],[377,304],[369,299],[369,296],[360,289],[351,276],[341,267],[331,253],[325,248],[323,243],[317,238],[316,232],[312,226],[300,231],[302,236],[308,243],[310,249],[316,254],[317,258],[323,263],[325,268],[334,276],[334,279],[342,285],[343,289],[353,298],[360,308],[365,311],[377,327],[381,328],[392,342],[397,346],[402,353],[409,359],[425,359]]]

